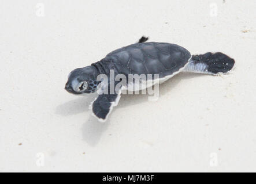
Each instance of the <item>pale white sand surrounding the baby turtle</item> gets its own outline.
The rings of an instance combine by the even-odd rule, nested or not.
[[[0,171],[256,171],[255,7],[2,0]],[[143,34],[191,53],[224,52],[236,68],[179,74],[160,86],[158,101],[123,95],[98,122],[88,110],[95,95],[64,90],[69,72]]]

